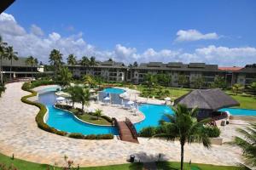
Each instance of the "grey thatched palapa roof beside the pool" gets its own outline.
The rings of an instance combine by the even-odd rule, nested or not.
[[[174,105],[183,104],[192,109],[217,111],[224,107],[240,105],[235,99],[225,94],[219,88],[197,89],[185,94],[174,101]]]

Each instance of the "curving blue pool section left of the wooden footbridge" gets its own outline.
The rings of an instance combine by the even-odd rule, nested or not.
[[[83,133],[83,134],[106,134],[113,133],[118,134],[117,128],[115,127],[104,127],[90,125],[76,119],[71,113],[67,111],[61,111],[55,109],[55,93],[50,92],[39,95],[39,102],[46,105],[49,109],[49,118],[47,124],[50,127],[55,127],[61,131],[68,133]]]

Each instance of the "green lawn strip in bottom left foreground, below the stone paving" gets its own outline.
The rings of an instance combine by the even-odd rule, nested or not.
[[[63,159],[64,162],[64,159]],[[0,165],[5,164],[6,167],[13,165],[18,170],[52,170],[54,167],[46,164],[38,164],[30,161],[23,161],[20,159],[12,160],[9,156],[4,156],[0,153]],[[0,167],[1,169],[1,167]],[[55,167],[55,170],[61,170],[60,167]],[[102,167],[80,167],[80,170],[119,170],[119,169],[129,169],[129,170],[140,170],[143,169],[142,163],[127,163],[121,165],[111,165],[111,166],[102,166]]]

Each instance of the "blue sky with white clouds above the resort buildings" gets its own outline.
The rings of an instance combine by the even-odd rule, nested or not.
[[[256,63],[254,0],[17,0],[0,14],[0,35],[20,56],[47,63],[53,48],[137,61]]]

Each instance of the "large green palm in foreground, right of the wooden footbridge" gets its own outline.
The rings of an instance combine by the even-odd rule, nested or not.
[[[197,122],[197,108],[189,110],[186,105],[177,105],[174,108],[173,115],[166,115],[168,122],[160,121],[160,132],[157,132],[154,138],[163,138],[174,141],[179,140],[181,145],[181,170],[183,170],[184,144],[193,142],[202,142],[207,148],[211,146],[206,133],[203,133],[203,125],[210,120],[206,119]]]

